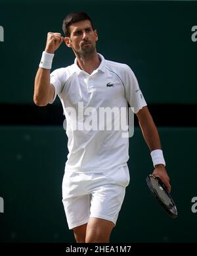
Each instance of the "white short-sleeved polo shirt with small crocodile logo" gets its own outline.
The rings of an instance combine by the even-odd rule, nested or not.
[[[129,138],[123,138],[121,129],[114,129],[116,120],[113,115],[112,129],[106,130],[106,124],[101,124],[99,119],[99,111],[107,107],[127,109],[129,103],[137,113],[146,106],[131,68],[127,64],[107,61],[100,54],[99,57],[101,63],[92,74],[81,70],[76,59],[71,66],[58,68],[51,73],[55,97],[60,97],[66,116],[69,151],[66,170],[106,172],[125,165],[129,159]],[[98,121],[97,127],[94,126],[92,130],[83,128],[85,123],[90,127],[93,120]]]

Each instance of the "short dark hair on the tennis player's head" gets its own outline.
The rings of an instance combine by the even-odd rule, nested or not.
[[[82,11],[70,13],[66,16],[66,18],[64,18],[63,24],[62,24],[62,30],[64,31],[65,36],[70,37],[70,30],[69,30],[70,25],[80,20],[89,20],[93,28],[93,22],[91,18],[87,15],[87,13]]]

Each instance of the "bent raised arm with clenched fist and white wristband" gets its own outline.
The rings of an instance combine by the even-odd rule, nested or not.
[[[64,41],[64,38],[60,33],[49,32],[47,34],[45,51],[34,82],[33,102],[37,106],[47,105],[55,95],[55,88],[53,84],[50,84],[51,63],[54,53],[62,41]]]

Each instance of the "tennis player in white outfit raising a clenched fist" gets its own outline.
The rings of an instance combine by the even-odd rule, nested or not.
[[[129,103],[150,148],[153,174],[162,179],[169,191],[171,186],[158,131],[131,68],[106,61],[97,53],[97,30],[86,13],[66,16],[63,30],[65,38],[60,33],[47,35],[33,101],[45,106],[58,95],[64,109],[69,154],[62,202],[76,241],[109,242],[129,184],[129,139],[121,136],[121,130],[86,129],[83,124],[88,123],[89,117],[86,113],[81,118],[81,109],[84,113],[90,108],[97,112],[103,107],[127,108]],[[71,66],[53,71],[50,78],[53,56],[62,41],[72,48],[76,59]],[[114,118],[112,122],[115,123]],[[106,128],[101,123],[103,127]]]

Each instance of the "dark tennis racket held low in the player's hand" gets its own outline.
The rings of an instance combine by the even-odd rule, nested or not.
[[[162,180],[159,177],[150,174],[146,178],[146,183],[160,205],[165,209],[165,212],[171,218],[177,218],[177,207]]]

